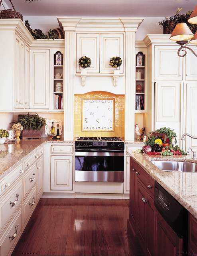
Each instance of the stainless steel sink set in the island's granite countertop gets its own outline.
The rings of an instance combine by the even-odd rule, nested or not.
[[[197,163],[178,161],[151,161],[165,172],[197,172]]]

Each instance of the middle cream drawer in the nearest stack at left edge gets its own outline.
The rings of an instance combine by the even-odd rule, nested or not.
[[[19,206],[21,205],[21,202],[22,202],[22,180],[12,190],[12,192],[10,192],[10,194],[4,198],[4,200],[0,204],[1,230],[10,221],[10,218],[14,215],[16,210],[18,210]]]

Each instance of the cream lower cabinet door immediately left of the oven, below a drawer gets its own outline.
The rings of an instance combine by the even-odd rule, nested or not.
[[[51,156],[51,190],[73,189],[73,156]]]

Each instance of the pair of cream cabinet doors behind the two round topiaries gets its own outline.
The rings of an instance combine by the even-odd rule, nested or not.
[[[79,58],[87,56],[91,59],[88,73],[113,73],[109,65],[110,58],[118,56],[123,59],[123,34],[77,34],[76,73],[81,73]],[[123,64],[120,66],[123,73]]]

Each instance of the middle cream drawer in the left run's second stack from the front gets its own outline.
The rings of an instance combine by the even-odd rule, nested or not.
[[[36,163],[32,165],[30,170],[24,176],[24,198],[36,184],[37,180],[37,166]]]

